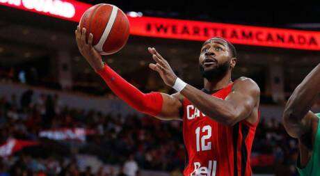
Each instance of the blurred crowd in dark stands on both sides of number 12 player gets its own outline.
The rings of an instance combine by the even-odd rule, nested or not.
[[[85,143],[52,142],[38,137],[42,129],[61,127],[83,127],[94,129],[97,133],[87,136]],[[177,170],[184,168],[181,122],[70,109],[61,106],[57,95],[42,94],[34,99],[32,90],[26,91],[20,99],[16,95],[0,98],[0,134],[0,145],[8,138],[42,143],[1,159],[1,176],[9,173],[93,175],[90,167],[80,167],[77,154],[90,154],[103,163],[123,166],[117,173],[99,169],[95,175],[129,175],[122,172],[126,170],[126,165],[129,170],[134,170],[131,171],[134,175],[139,173],[139,169],[163,170],[181,175]],[[280,119],[265,120],[262,117],[253,144],[253,155],[256,154],[270,154],[275,160],[271,166],[253,167],[254,173],[296,175],[297,142],[287,135]]]

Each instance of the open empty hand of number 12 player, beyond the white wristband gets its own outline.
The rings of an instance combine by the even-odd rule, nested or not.
[[[177,76],[171,69],[169,63],[157,52],[156,49],[148,47],[147,50],[152,54],[153,60],[157,62],[156,64],[150,63],[149,67],[160,74],[166,85],[172,87],[175,84]]]

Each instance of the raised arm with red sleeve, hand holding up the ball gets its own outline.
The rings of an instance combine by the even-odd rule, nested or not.
[[[179,109],[182,103],[179,95],[167,95],[163,93],[141,93],[140,90],[122,79],[111,67],[102,62],[102,57],[92,46],[93,34],[90,33],[86,42],[86,29],[75,31],[77,45],[80,53],[111,88],[113,93],[124,100],[131,107],[161,120],[179,119]]]

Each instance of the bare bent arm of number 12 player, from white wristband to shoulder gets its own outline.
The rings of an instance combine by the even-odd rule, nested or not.
[[[202,113],[225,125],[235,125],[250,116],[259,102],[259,87],[252,79],[241,77],[234,82],[232,92],[219,99],[186,85],[180,92]]]

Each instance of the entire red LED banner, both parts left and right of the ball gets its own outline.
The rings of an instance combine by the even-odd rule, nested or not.
[[[0,5],[79,22],[90,4],[72,0],[0,0]],[[157,17],[128,17],[130,33],[152,38],[205,41],[219,36],[234,44],[320,50],[320,32]]]

